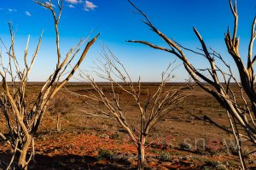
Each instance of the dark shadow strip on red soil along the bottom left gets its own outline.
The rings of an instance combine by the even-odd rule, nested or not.
[[[7,163],[11,159],[11,151],[1,152],[0,150],[0,170],[7,167]],[[17,161],[17,160],[15,160]],[[136,169],[131,167],[126,161],[114,160],[98,160],[94,156],[78,156],[78,155],[55,155],[46,156],[37,154],[35,161],[31,161],[28,169],[44,169],[44,170],[66,170],[66,169],[86,169],[86,170],[115,170],[115,169]]]

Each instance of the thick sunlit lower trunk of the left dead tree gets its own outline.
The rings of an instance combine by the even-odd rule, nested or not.
[[[32,136],[29,136],[26,138],[26,142],[24,143],[24,145],[21,148],[21,153],[19,155],[19,161],[18,161],[18,165],[20,167],[20,169],[27,169],[27,165],[30,161],[31,158],[28,158],[29,160],[26,161],[26,156],[27,156],[27,151],[30,148],[30,144],[32,144]]]

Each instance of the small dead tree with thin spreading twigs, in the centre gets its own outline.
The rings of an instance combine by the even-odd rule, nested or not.
[[[149,92],[146,97],[142,95],[142,84],[132,82],[128,71],[119,59],[110,51],[103,52],[102,60],[96,66],[97,76],[109,83],[109,90],[105,91],[98,85],[93,77],[81,73],[84,80],[90,82],[94,91],[84,95],[86,103],[91,105],[96,112],[88,113],[91,116],[106,116],[114,118],[121,125],[126,133],[129,134],[131,141],[137,147],[138,162],[137,169],[143,169],[145,164],[145,144],[148,134],[153,127],[160,121],[161,117],[166,116],[172,111],[172,107],[177,106],[183,100],[183,88],[171,89],[167,86],[171,74],[168,72],[170,66],[162,73],[159,87],[154,92]],[[125,111],[127,104],[122,101],[122,95],[128,94],[135,102],[138,116],[138,126],[127,120],[129,111]],[[91,101],[91,102],[89,102]],[[100,108],[97,103],[102,103]]]

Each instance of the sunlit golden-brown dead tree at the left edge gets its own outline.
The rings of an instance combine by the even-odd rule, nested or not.
[[[30,99],[31,96],[25,95],[26,82],[32,69],[32,65],[38,56],[43,33],[39,38],[38,46],[32,55],[32,60],[30,62],[28,62],[27,59],[30,38],[27,38],[24,53],[25,66],[22,69],[15,54],[15,32],[13,31],[12,26],[9,24],[9,34],[11,39],[10,47],[7,47],[3,43],[8,59],[8,63],[6,65],[2,60],[3,54],[0,54],[0,76],[2,77],[2,87],[0,89],[0,107],[8,129],[7,134],[0,132],[0,136],[15,150],[9,165],[6,167],[7,169],[14,167],[14,164],[18,164],[20,169],[27,169],[29,162],[32,160],[33,156],[35,156],[34,136],[38,132],[40,123],[44,118],[49,101],[71,79],[71,77],[73,77],[74,72],[77,71],[89,48],[98,37],[97,35],[86,44],[83,53],[79,57],[76,57],[76,55],[79,54],[79,48],[83,42],[86,41],[85,39],[82,39],[75,47],[71,48],[66,55],[61,54],[58,28],[61,20],[63,1],[57,1],[58,5],[56,7],[56,11],[58,11],[58,14],[55,13],[51,1],[47,3],[35,1],[35,3],[49,9],[53,15],[57,62],[55,71],[49,75],[49,78],[46,80],[46,82],[44,82],[40,92],[38,92],[37,98],[32,102],[32,105],[30,105],[28,103],[28,99]],[[1,42],[3,42],[2,39]],[[13,161],[16,160],[15,157],[18,162],[14,163]]]

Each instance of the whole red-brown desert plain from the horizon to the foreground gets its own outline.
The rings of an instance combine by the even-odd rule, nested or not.
[[[102,88],[108,90],[108,86],[103,85]],[[178,86],[180,84],[174,84],[171,88]],[[80,94],[87,93],[90,89],[88,85],[72,83],[67,88]],[[144,84],[144,88],[155,89],[157,85]],[[32,100],[40,89],[40,83],[29,84],[28,89],[27,96],[30,96],[28,99]],[[236,93],[239,91],[236,90]],[[135,122],[136,125],[136,106],[129,96],[119,95],[123,99],[128,121]],[[61,116],[62,130],[60,133],[56,132],[56,115],[49,111],[44,117],[38,136],[35,137],[36,156],[35,161],[29,166],[30,169],[136,169],[137,149],[117,122],[113,119],[86,116],[84,112],[79,111],[78,108],[91,111],[91,108],[85,105],[85,99],[73,97],[65,91],[56,96],[56,98],[60,97],[61,100],[67,100],[62,106],[68,107],[65,110],[67,113]],[[71,104],[66,105],[67,103]],[[101,104],[98,106],[102,107]],[[52,111],[59,110],[60,108]],[[148,169],[238,169],[239,161],[236,153],[232,153],[232,150],[224,150],[224,147],[216,150],[214,142],[212,148],[207,150],[195,148],[183,150],[181,145],[184,139],[191,141],[233,139],[232,135],[219,130],[218,127],[197,120],[189,115],[188,111],[197,116],[205,114],[216,122],[228,124],[225,111],[218,102],[201,88],[195,87],[189,97],[184,99],[183,105],[173,108],[149,135],[148,142],[152,144],[146,148],[146,167]],[[0,115],[0,129],[1,132],[7,133],[2,116]],[[118,135],[114,136],[115,133]],[[171,144],[163,147],[168,137]],[[248,150],[250,151],[250,148]],[[9,162],[11,152],[9,145],[0,141],[0,169],[4,167],[4,162]],[[250,156],[247,160],[249,166],[256,169],[256,155]]]

